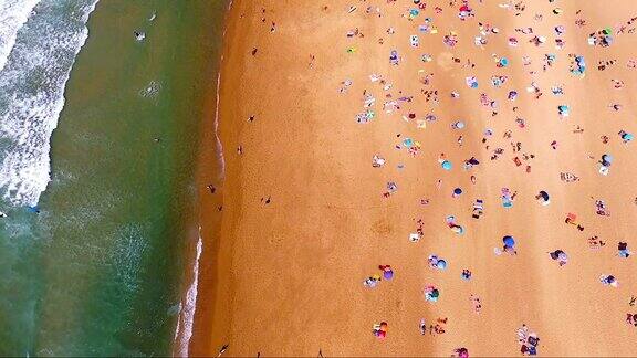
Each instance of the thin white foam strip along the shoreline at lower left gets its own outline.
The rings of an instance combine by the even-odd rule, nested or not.
[[[180,327],[184,327],[181,339],[177,349],[177,357],[188,357],[188,346],[190,345],[190,337],[192,337],[192,324],[195,323],[195,312],[197,309],[197,285],[199,284],[199,259],[203,251],[203,240],[201,239],[201,227],[199,227],[199,240],[197,241],[197,256],[195,257],[195,265],[192,266],[192,283],[186,292],[186,302],[180,305],[184,309],[179,315],[177,323],[177,330],[175,336],[179,335]]]

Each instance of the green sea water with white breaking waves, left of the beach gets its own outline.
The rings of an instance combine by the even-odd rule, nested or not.
[[[223,3],[0,0],[1,355],[171,352]]]

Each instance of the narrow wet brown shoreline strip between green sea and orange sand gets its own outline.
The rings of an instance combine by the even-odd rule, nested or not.
[[[224,2],[228,2],[227,0]],[[230,3],[232,1],[230,0]],[[194,201],[194,225],[197,227],[197,234],[185,244],[185,262],[182,288],[180,289],[180,310],[177,318],[173,355],[177,357],[196,356],[191,347],[197,341],[198,317],[206,308],[201,308],[201,298],[208,298],[209,292],[215,291],[215,284],[210,287],[206,277],[208,276],[209,255],[216,255],[213,243],[220,231],[221,214],[216,208],[223,202],[223,177],[224,159],[223,147],[217,135],[218,127],[218,86],[220,80],[220,65],[222,62],[223,35],[226,32],[226,18],[228,7],[221,4],[222,15],[220,25],[212,25],[212,31],[218,32],[213,38],[219,41],[216,46],[215,59],[210,60],[208,75],[217,75],[217,81],[208,82],[202,95],[202,112],[199,125],[199,143],[196,155],[195,186],[196,200]],[[209,188],[213,188],[211,194]],[[210,248],[212,246],[212,250]],[[189,329],[184,330],[185,326]]]

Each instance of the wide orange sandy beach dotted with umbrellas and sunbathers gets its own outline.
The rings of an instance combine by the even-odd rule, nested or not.
[[[191,356],[635,355],[637,8],[421,2],[233,1]]]

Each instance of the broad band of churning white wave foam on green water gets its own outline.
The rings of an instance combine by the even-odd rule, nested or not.
[[[0,189],[13,204],[35,206],[50,181],[51,134],[96,3],[41,0],[14,40],[1,34],[14,42],[0,71]]]

